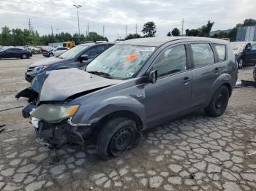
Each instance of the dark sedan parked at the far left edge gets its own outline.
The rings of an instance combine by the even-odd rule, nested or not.
[[[32,56],[32,53],[28,50],[23,50],[21,48],[7,48],[0,50],[1,58],[22,58],[26,59]]]

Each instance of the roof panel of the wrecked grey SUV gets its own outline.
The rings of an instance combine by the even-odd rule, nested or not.
[[[184,41],[202,41],[202,42],[213,42],[213,43],[221,43],[227,44],[229,42],[222,39],[214,39],[214,38],[205,38],[205,37],[191,37],[191,36],[165,36],[165,37],[150,37],[150,38],[140,38],[140,39],[130,39],[124,42],[120,42],[118,44],[125,45],[140,45],[140,46],[151,46],[151,47],[161,47],[162,45],[168,42],[175,42],[178,40]]]

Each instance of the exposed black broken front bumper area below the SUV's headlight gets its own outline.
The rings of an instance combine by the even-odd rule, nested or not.
[[[50,123],[31,117],[35,128],[37,143],[43,147],[59,148],[67,143],[84,145],[92,133],[91,125],[70,125],[69,120]]]

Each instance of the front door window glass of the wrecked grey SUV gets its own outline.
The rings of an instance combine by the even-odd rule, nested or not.
[[[153,64],[153,69],[157,69],[157,76],[163,77],[179,71],[187,70],[187,57],[184,45],[170,47],[161,52],[157,61]]]

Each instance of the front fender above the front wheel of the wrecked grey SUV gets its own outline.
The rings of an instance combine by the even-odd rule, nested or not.
[[[84,114],[80,121],[74,116],[73,123],[87,124],[99,122],[103,117],[113,112],[128,111],[140,117],[142,122],[145,121],[146,116],[144,112],[144,105],[136,98],[128,96],[116,96],[105,99],[104,101],[91,106]],[[82,109],[83,110],[83,109]],[[80,111],[83,112],[83,111]]]

